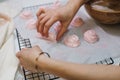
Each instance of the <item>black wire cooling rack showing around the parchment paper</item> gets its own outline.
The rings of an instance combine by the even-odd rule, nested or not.
[[[52,4],[53,3],[48,3],[48,4],[43,4],[43,5],[25,7],[25,8],[23,8],[23,11],[24,10],[30,10],[33,13],[35,13],[40,6],[49,7]],[[34,14],[34,16],[35,16],[35,14]],[[31,48],[32,45],[31,45],[30,39],[24,39],[19,33],[19,32],[21,32],[19,27],[17,27],[17,29],[16,29],[16,33],[17,33],[17,38],[18,38],[19,50],[21,50],[22,48]],[[96,62],[95,64],[114,65],[116,63],[120,65],[120,58],[116,62],[116,60],[114,60],[113,58],[110,57],[110,58],[101,60],[99,62]],[[23,69],[23,72],[24,72],[25,80],[57,80],[57,79],[60,79],[57,76],[47,74],[47,73],[44,73],[44,72],[43,73],[31,73],[30,71],[25,70],[25,69]]]

